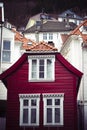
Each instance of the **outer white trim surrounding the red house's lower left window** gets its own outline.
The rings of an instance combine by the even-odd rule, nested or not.
[[[23,123],[23,100],[24,99],[37,99],[37,113],[36,113],[36,123],[32,123],[29,122],[28,123]],[[20,118],[19,118],[19,122],[20,122],[20,126],[39,126],[39,107],[40,107],[40,94],[19,94],[19,101],[20,101]],[[30,111],[29,111],[29,115]]]

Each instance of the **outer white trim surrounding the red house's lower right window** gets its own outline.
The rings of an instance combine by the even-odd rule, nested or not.
[[[52,123],[47,123],[46,119],[47,119],[47,114],[46,114],[46,100],[47,99],[56,99],[58,97],[58,99],[60,99],[60,123],[55,123],[54,122],[54,116],[52,119]],[[44,106],[43,106],[43,121],[44,121],[44,125],[45,126],[63,126],[64,122],[63,122],[63,101],[64,101],[64,93],[59,93],[59,94],[43,94],[43,102],[44,102]],[[53,114],[54,115],[54,114]]]

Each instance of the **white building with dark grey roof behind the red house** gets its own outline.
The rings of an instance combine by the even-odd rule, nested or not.
[[[36,24],[26,29],[23,33],[28,39],[32,39],[36,42],[45,41],[48,44],[55,46],[58,51],[60,51],[60,34],[69,34],[69,32],[75,28],[76,24],[72,22],[67,26],[67,22],[42,20],[36,21]]]

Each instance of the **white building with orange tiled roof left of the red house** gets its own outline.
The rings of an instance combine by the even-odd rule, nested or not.
[[[23,43],[29,42],[10,23],[0,26],[0,73],[11,67],[23,54]],[[7,88],[0,81],[0,130],[5,130]]]

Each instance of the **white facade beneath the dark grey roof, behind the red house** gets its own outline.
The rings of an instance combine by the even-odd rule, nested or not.
[[[38,36],[37,36],[38,35]],[[47,42],[48,44],[52,44],[58,48],[58,51],[60,51],[61,47],[62,47],[62,42],[60,42],[60,33],[59,32],[40,32],[38,34],[35,33],[29,33],[29,34],[25,34],[25,37],[30,39],[32,38],[32,40],[34,41],[44,41]],[[38,40],[37,40],[38,37]]]

